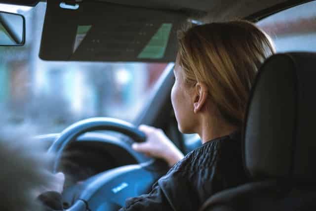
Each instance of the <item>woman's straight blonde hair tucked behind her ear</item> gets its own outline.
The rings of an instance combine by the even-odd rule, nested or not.
[[[185,82],[205,83],[224,120],[241,126],[256,72],[275,52],[270,38],[254,24],[235,20],[183,30],[178,40]]]

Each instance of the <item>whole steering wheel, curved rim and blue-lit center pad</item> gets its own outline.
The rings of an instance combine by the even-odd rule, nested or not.
[[[76,141],[79,135],[93,130],[120,132],[136,142],[146,140],[146,135],[137,127],[118,119],[100,117],[79,121],[63,130],[48,149],[48,153],[55,156],[54,173],[67,146]],[[85,180],[80,185],[76,202],[67,211],[117,211],[124,206],[125,199],[148,193],[153,183],[166,172],[168,165],[158,159],[148,161],[143,157],[147,162],[109,169]]]

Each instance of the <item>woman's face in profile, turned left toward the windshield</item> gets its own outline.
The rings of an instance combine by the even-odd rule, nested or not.
[[[183,133],[192,133],[194,127],[194,109],[190,97],[190,88],[184,81],[181,66],[176,62],[173,69],[175,82],[171,89],[172,107],[178,122],[178,128]]]

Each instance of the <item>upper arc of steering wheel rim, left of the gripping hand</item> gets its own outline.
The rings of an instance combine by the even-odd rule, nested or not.
[[[144,132],[140,131],[132,124],[122,120],[105,117],[95,117],[81,120],[64,129],[49,147],[47,152],[53,154],[55,157],[52,169],[53,173],[57,172],[64,149],[69,146],[69,144],[76,141],[76,138],[79,135],[94,130],[116,131],[131,137],[132,140],[136,142],[146,141],[146,134]],[[148,161],[148,159],[145,159],[144,157],[144,161],[145,160]]]

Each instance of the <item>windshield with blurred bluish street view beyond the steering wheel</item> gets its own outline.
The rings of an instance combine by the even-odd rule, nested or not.
[[[39,58],[46,3],[0,4],[26,18],[26,44],[0,47],[0,106],[6,124],[55,133],[81,119],[133,122],[167,66],[161,63],[51,62]],[[56,38],[58,39],[58,38]]]

